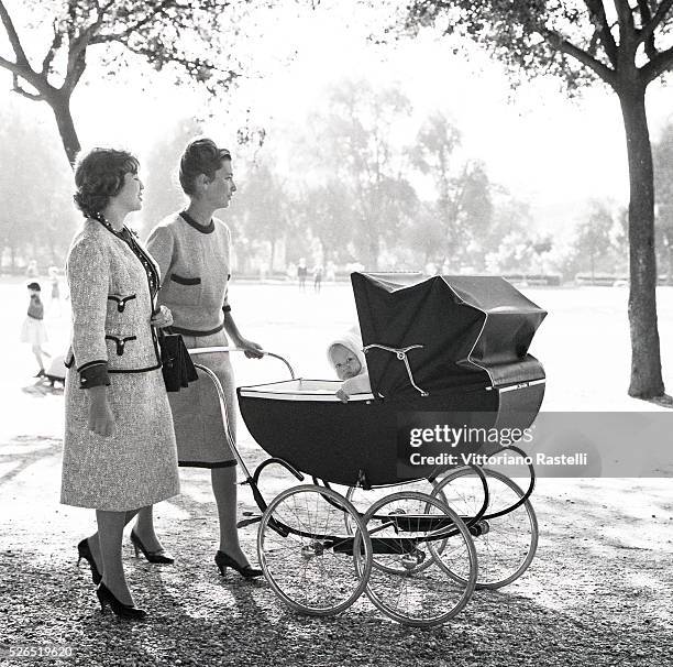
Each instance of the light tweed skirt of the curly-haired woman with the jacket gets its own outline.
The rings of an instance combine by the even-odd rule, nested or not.
[[[110,373],[114,434],[88,428],[89,392],[69,370],[60,502],[121,512],[179,493],[173,418],[161,370]]]

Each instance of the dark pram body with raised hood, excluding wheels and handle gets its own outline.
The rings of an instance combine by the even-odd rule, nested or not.
[[[239,387],[255,440],[297,470],[336,484],[415,479],[397,464],[400,415],[471,415],[484,428],[525,429],[544,395],[544,371],[528,354],[545,313],[499,277],[435,276],[399,283],[353,274],[365,349],[409,346],[413,382],[395,353],[372,347],[372,394],[341,403],[339,382],[290,380]],[[495,445],[479,451],[490,453]]]

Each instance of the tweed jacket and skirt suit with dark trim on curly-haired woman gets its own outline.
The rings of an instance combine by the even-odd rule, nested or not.
[[[147,262],[96,220],[85,222],[68,252],[73,346],[66,361],[64,504],[122,512],[179,493],[170,407],[150,326]],[[108,383],[114,433],[102,437],[89,430],[91,390],[84,387]]]

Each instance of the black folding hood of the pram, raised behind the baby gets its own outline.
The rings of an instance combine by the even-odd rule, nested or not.
[[[407,359],[429,394],[544,378],[528,348],[547,313],[501,277],[353,273],[351,282],[365,348],[423,346]],[[375,396],[419,395],[394,352],[373,347],[366,359]]]

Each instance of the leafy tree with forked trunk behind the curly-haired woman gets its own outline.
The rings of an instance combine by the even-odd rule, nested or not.
[[[11,53],[0,67],[11,72],[13,90],[52,108],[70,163],[79,139],[70,98],[93,53],[111,72],[123,54],[135,54],[155,69],[167,65],[185,81],[222,94],[242,74],[234,48],[221,48],[221,33],[233,35],[251,0],[52,0],[32,2],[35,17],[23,30],[12,19],[9,2],[0,0],[0,20]],[[40,53],[30,41],[45,32]]]

